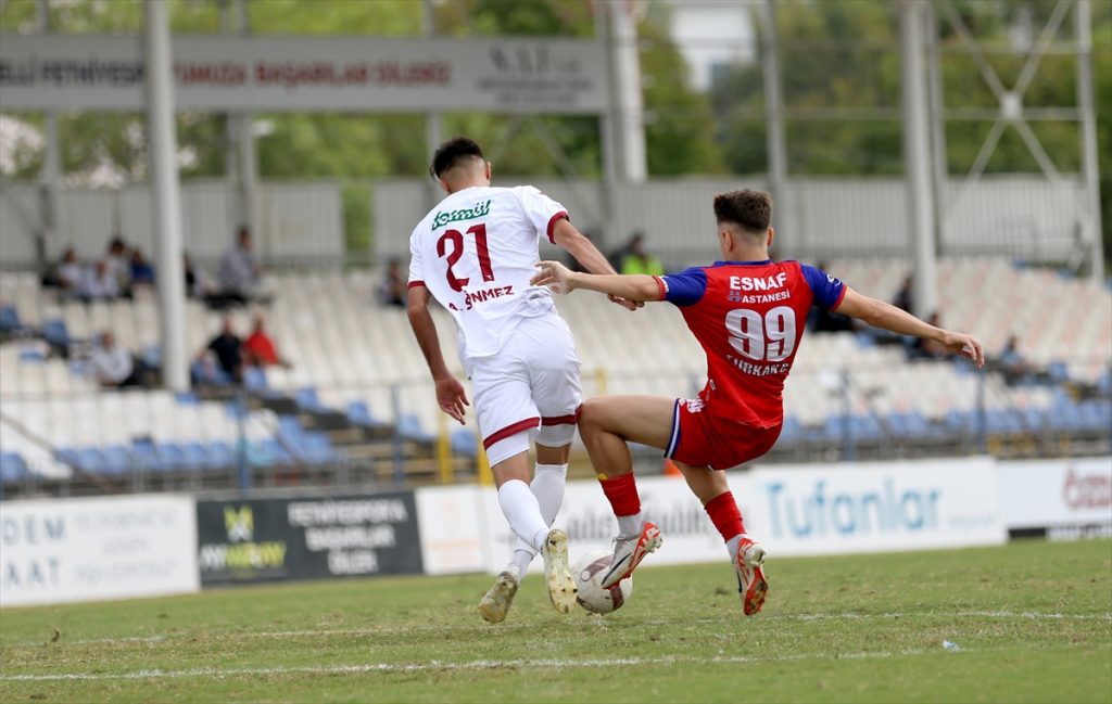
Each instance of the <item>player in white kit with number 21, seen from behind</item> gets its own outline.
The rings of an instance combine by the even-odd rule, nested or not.
[[[467,395],[445,365],[429,299],[455,319],[459,359],[475,392],[498,504],[518,536],[509,565],[478,610],[492,623],[503,621],[539,552],[553,606],[568,613],[576,587],[567,564],[567,535],[550,526],[564,501],[579,414],[579,358],[552,294],[529,279],[542,237],[592,273],[614,270],[572,225],[563,205],[530,185],[492,188],[490,163],[473,140],[458,137],[441,144],[429,170],[448,195],[409,239],[409,323],[436,381],[440,409],[463,423]],[[530,482],[533,439],[537,465]]]

